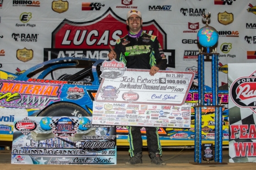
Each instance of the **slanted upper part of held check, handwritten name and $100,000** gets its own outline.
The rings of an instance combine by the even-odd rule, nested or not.
[[[194,78],[193,72],[126,69],[124,63],[105,61],[97,102],[182,105]]]

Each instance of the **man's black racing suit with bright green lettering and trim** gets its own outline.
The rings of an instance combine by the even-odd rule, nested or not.
[[[116,61],[122,61],[127,68],[150,69],[156,66],[161,70],[166,69],[167,59],[156,36],[144,32],[139,38],[132,38],[128,34],[117,40],[115,46],[117,54]],[[142,151],[141,127],[127,127],[128,141],[130,143],[130,156],[133,157]],[[162,154],[159,140],[159,127],[145,127],[147,136],[147,147],[149,152]]]

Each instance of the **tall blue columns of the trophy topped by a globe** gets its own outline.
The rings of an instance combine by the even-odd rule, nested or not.
[[[209,47],[207,48],[208,55],[212,56],[211,60],[211,78],[212,78],[212,95],[213,101],[211,106],[210,102],[207,102],[208,106],[215,108],[215,154],[214,161],[222,162],[222,107],[218,104],[218,54],[209,53]],[[204,107],[204,53],[199,53],[198,56],[198,106],[195,108],[195,159],[196,163],[201,163],[201,109]]]

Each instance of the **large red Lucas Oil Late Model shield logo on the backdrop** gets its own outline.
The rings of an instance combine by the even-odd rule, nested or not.
[[[102,16],[93,19],[93,21],[73,22],[64,19],[52,32],[52,46],[44,49],[44,61],[71,56],[107,59],[109,45],[115,46],[116,39],[127,34],[126,18],[116,18],[116,16],[109,8]],[[105,28],[109,28],[113,22],[119,23],[115,24],[115,27],[110,30],[106,30]],[[166,49],[166,33],[159,24],[152,21],[143,29],[146,33],[156,34],[161,47]],[[73,53],[70,53],[70,51]]]

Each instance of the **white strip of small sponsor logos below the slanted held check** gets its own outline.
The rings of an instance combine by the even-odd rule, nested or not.
[[[104,107],[99,108],[98,106]],[[105,106],[111,109],[106,109]],[[144,109],[145,106],[146,110]],[[126,109],[126,112],[116,111],[116,107],[122,107]],[[102,111],[104,114],[97,114],[95,111]],[[93,102],[92,118],[93,124],[190,128],[191,106],[189,104],[182,106],[133,103],[115,104],[95,101]]]

